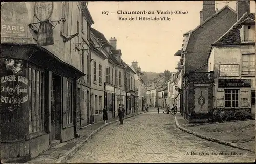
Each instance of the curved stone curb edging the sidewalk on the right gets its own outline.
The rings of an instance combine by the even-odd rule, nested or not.
[[[210,137],[210,136],[205,136],[205,135],[203,135],[203,134],[196,133],[196,132],[194,132],[194,131],[188,130],[188,129],[184,128],[184,127],[180,127],[180,126],[179,126],[179,123],[178,123],[178,121],[177,121],[177,119],[176,119],[176,116],[174,117],[174,119],[175,119],[175,125],[176,125],[176,127],[177,127],[178,129],[184,131],[184,132],[187,132],[187,133],[189,133],[189,134],[193,134],[193,135],[198,136],[199,138],[202,138],[202,139],[206,139],[206,140],[209,140],[209,141],[212,141],[212,142],[216,142],[216,143],[218,143],[218,144],[231,146],[231,147],[233,147],[233,148],[238,148],[238,149],[241,149],[241,150],[246,150],[246,151],[249,151],[249,152],[252,152],[252,153],[255,152],[255,150],[251,150],[251,149],[248,149],[248,148],[245,148],[245,147],[241,147],[241,146],[238,146],[237,144],[234,144],[234,143],[231,143],[231,142],[228,142],[228,141],[215,139],[215,138],[212,138],[212,137]]]

